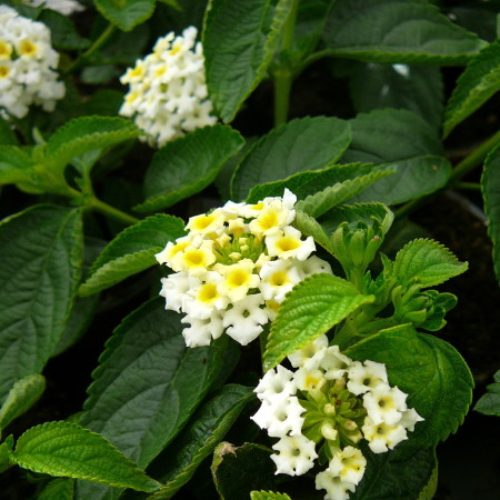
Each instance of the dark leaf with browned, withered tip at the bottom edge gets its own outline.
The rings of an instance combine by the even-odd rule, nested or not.
[[[249,498],[252,490],[273,489],[270,450],[251,442],[234,447],[221,442],[213,452],[212,476],[221,500]]]

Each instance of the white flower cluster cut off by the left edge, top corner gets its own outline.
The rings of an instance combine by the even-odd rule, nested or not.
[[[0,110],[17,118],[28,114],[31,104],[53,111],[64,96],[64,83],[54,69],[59,53],[50,44],[43,23],[0,6]]]

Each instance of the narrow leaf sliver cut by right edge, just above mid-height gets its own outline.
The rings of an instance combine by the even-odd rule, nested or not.
[[[500,282],[500,144],[487,157],[481,176],[484,212],[488,216],[488,236],[493,242],[493,267]]]

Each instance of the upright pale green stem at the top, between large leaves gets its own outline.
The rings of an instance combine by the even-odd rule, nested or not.
[[[297,11],[299,9],[299,0],[293,0],[290,13],[283,26],[283,34],[281,39],[281,53],[283,57],[278,63],[278,68],[273,71],[274,77],[274,126],[284,123],[288,119],[288,110],[290,104],[290,91],[292,86],[293,72],[287,60],[287,51],[293,46],[293,34],[296,31]]]

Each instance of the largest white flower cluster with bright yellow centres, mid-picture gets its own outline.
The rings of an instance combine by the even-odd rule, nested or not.
[[[189,347],[208,346],[226,332],[242,346],[276,318],[284,296],[306,277],[331,273],[316,256],[311,237],[290,223],[297,197],[266,198],[257,204],[228,201],[189,219],[188,236],[157,253],[173,271],[162,279],[167,309],[184,312]]]

